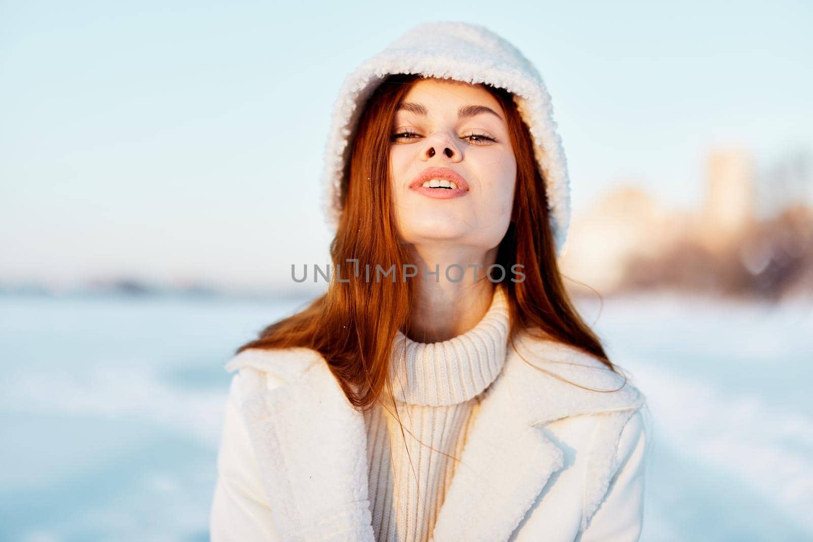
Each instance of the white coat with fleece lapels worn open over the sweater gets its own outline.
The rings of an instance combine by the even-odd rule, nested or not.
[[[430,540],[631,542],[645,397],[571,347],[520,336],[484,392]],[[311,349],[248,349],[233,376],[211,540],[373,542],[363,414]],[[622,387],[622,384],[623,387]]]

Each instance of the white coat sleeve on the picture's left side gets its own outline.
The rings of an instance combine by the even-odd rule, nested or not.
[[[249,432],[239,409],[244,378],[241,372],[237,372],[229,388],[211,505],[211,542],[280,540]]]

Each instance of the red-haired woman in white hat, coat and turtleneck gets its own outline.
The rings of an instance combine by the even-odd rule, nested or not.
[[[424,24],[346,80],[335,273],[233,377],[212,540],[637,540],[644,397],[563,287],[567,170],[536,69]]]

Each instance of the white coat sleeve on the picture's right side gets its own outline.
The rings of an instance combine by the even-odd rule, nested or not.
[[[576,542],[636,542],[644,514],[646,430],[641,411],[621,431],[618,470],[589,526]]]

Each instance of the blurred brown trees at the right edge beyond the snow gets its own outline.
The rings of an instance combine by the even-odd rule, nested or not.
[[[811,179],[811,154],[789,152],[754,180],[754,216],[733,236],[710,244],[715,232],[687,231],[657,254],[633,254],[615,291],[666,287],[772,301],[813,296]]]

